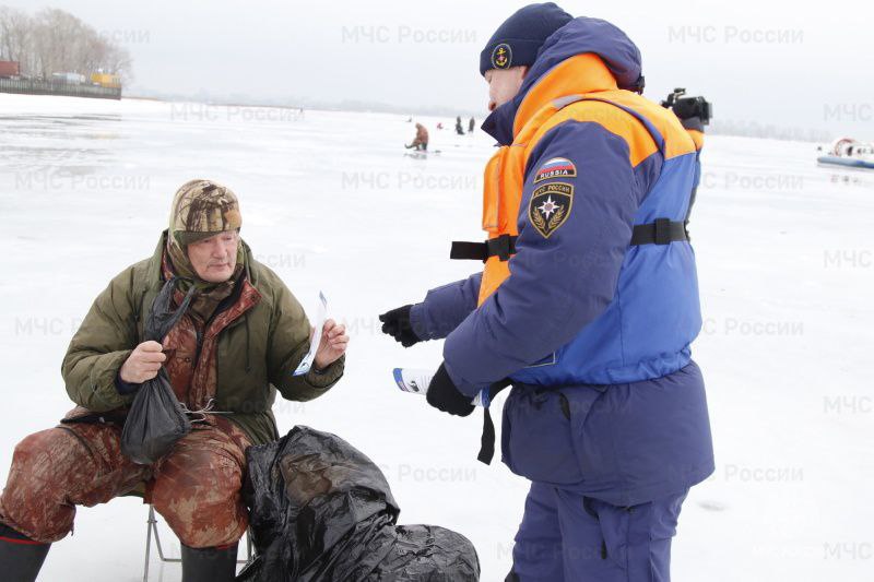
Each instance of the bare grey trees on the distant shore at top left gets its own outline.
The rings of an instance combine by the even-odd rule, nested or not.
[[[34,15],[0,5],[0,60],[17,61],[23,76],[88,75],[102,70],[129,80],[128,51],[63,10]]]

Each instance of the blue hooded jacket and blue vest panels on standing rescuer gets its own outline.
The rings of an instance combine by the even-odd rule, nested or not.
[[[546,40],[520,94],[483,129],[512,143],[527,93],[580,54],[601,57],[619,87],[640,75],[639,51],[622,31],[576,19]],[[529,200],[556,158],[576,166],[562,179],[574,205],[544,237],[529,224]],[[630,506],[712,473],[704,380],[689,347],[701,324],[694,252],[687,241],[629,246],[635,225],[685,218],[698,175],[697,154],[660,149],[633,167],[627,144],[604,127],[563,123],[525,168],[509,278],[479,308],[477,273],[412,309],[420,336],[446,337],[446,368],[462,392],[513,380],[501,444],[517,474]]]

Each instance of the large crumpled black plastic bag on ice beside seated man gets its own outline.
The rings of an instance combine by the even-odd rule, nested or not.
[[[480,561],[462,535],[395,525],[385,475],[343,439],[297,426],[246,451],[256,557],[250,582],[475,582]]]

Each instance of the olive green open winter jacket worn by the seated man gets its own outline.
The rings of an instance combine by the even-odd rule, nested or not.
[[[91,412],[123,408],[133,401],[133,395],[118,393],[115,379],[143,341],[144,318],[164,283],[161,260],[166,236],[165,230],[152,258],[109,282],[70,342],[61,366],[67,393]],[[252,259],[243,240],[240,245],[247,277],[261,300],[218,335],[214,409],[229,412],[227,418],[253,444],[261,444],[279,438],[271,411],[276,391],[292,401],[323,394],[343,376],[345,356],[320,373],[292,376],[309,351],[309,320],[279,276]]]

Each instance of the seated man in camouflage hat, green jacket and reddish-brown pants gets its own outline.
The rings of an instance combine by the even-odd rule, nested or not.
[[[312,368],[294,376],[310,345],[303,308],[239,236],[236,195],[209,180],[185,183],[154,254],[109,282],[72,338],[61,372],[78,405],[66,423],[15,448],[0,497],[3,580],[36,579],[49,545],[73,526],[75,506],[94,506],[145,483],[145,500],[182,543],[182,580],[233,580],[248,516],[240,496],[245,449],[277,438],[276,391],[308,401],[343,375],[349,336],[328,320]],[[165,281],[176,305],[196,287],[162,343],[143,322]],[[127,407],[164,367],[190,411],[213,411],[153,465],[120,449]],[[94,414],[99,413],[99,414]],[[76,420],[80,421],[72,421]]]

